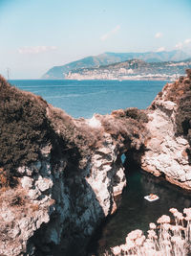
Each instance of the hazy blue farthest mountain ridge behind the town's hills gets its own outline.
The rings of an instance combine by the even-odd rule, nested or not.
[[[42,76],[42,79],[64,79],[70,71],[74,71],[80,68],[99,67],[102,65],[108,65],[129,60],[132,58],[142,59],[147,62],[159,62],[179,61],[189,57],[180,50],[175,50],[171,52],[164,51],[147,53],[104,53],[98,56],[81,58],[63,66],[54,66]]]

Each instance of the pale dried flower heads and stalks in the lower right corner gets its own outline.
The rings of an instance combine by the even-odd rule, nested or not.
[[[126,243],[111,248],[109,255],[137,256],[180,256],[191,252],[191,208],[185,208],[183,214],[171,208],[173,220],[162,215],[156,223],[150,223],[147,235],[134,230],[126,237]]]

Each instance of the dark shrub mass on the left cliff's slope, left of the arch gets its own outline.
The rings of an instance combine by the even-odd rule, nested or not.
[[[79,166],[83,156],[96,147],[98,136],[99,130],[88,127],[85,121],[77,123],[63,110],[0,77],[0,168],[4,173],[0,186],[18,175],[17,167],[39,160],[46,144],[53,147],[53,163],[64,156]],[[84,165],[83,161],[80,168]]]

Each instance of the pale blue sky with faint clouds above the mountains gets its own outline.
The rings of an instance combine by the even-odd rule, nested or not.
[[[39,79],[104,52],[191,56],[191,0],[0,0],[0,74]]]

